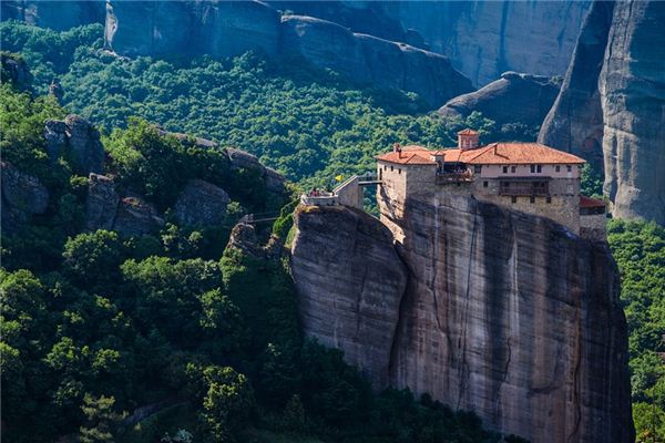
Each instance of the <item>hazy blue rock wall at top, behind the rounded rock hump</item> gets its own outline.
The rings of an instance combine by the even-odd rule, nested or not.
[[[565,72],[590,1],[269,1],[355,32],[448,56],[484,85],[504,72]],[[528,44],[525,44],[528,42]]]

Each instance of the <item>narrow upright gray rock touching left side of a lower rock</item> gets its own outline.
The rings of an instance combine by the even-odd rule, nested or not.
[[[112,178],[99,174],[88,177],[85,227],[88,230],[112,230],[120,196]]]

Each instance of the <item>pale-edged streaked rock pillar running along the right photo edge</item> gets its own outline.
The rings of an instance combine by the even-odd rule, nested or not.
[[[665,3],[618,2],[598,80],[604,192],[617,217],[665,225]]]

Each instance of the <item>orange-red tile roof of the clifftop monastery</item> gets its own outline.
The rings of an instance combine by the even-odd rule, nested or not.
[[[475,150],[458,148],[429,151],[410,145],[401,153],[386,153],[377,159],[399,164],[433,165],[432,155],[443,155],[446,162],[460,162],[471,165],[520,165],[520,164],[583,164],[576,155],[541,145],[540,143],[492,143]]]

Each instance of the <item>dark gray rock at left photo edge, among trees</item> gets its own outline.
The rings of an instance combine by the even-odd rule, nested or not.
[[[20,172],[7,162],[0,162],[2,172],[2,231],[12,234],[33,214],[45,213],[49,190],[39,178]]]

